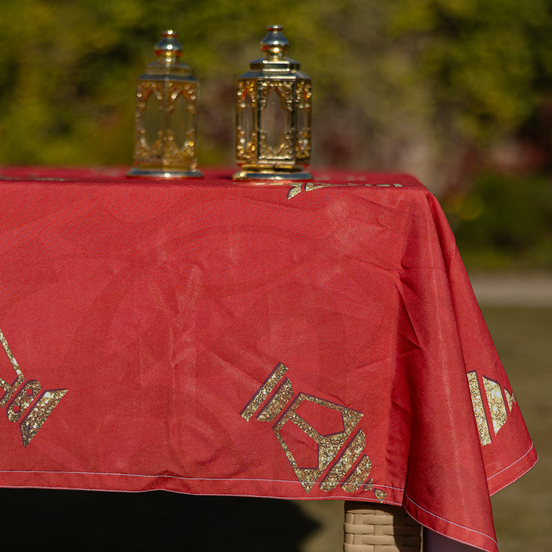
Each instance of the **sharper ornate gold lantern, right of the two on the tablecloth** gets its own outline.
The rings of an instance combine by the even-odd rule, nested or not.
[[[289,42],[272,25],[265,57],[237,80],[235,180],[306,180],[311,161],[311,79],[284,57]]]

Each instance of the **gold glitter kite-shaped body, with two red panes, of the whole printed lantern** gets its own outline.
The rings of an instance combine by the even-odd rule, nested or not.
[[[297,408],[304,401],[311,401],[320,406],[325,406],[326,408],[332,408],[333,410],[338,411],[342,415],[342,422],[344,430],[339,433],[334,433],[333,435],[321,435],[318,431],[311,426],[306,420],[304,420],[299,414],[297,414]],[[340,406],[333,402],[328,402],[317,397],[311,397],[311,395],[306,395],[305,393],[299,393],[293,403],[290,405],[286,413],[279,419],[279,421],[273,426],[273,431],[276,435],[279,444],[284,449],[286,456],[297,475],[297,479],[302,484],[305,491],[308,493],[313,488],[316,480],[324,473],[329,464],[335,459],[339,449],[345,444],[349,435],[353,433],[353,430],[358,425],[362,414],[351,410],[351,408],[346,408],[345,406]],[[284,437],[282,437],[282,428],[286,422],[293,422],[299,429],[304,431],[308,437],[317,444],[318,446],[318,462],[316,468],[302,468],[297,464],[295,457],[290,450],[288,444],[286,444]]]

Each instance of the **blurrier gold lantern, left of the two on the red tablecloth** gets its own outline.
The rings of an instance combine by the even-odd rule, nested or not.
[[[133,177],[201,177],[197,170],[197,81],[180,63],[178,33],[161,32],[157,61],[136,79]]]

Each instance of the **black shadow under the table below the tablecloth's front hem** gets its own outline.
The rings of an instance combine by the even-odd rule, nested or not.
[[[293,502],[266,498],[0,489],[0,504],[6,551],[299,552],[318,527]]]

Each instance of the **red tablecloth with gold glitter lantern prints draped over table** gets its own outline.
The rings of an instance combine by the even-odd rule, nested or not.
[[[402,504],[496,551],[536,453],[437,200],[0,168],[0,486]]]

